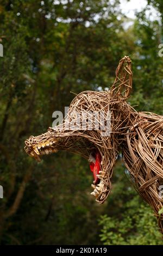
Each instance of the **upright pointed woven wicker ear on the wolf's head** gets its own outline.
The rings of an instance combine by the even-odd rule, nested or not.
[[[111,97],[116,101],[126,100],[131,92],[133,73],[131,71],[131,60],[124,56],[116,69],[116,78],[111,87]]]

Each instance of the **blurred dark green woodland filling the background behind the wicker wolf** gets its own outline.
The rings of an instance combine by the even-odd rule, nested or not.
[[[158,19],[151,19],[151,6]],[[121,156],[112,193],[98,205],[85,160],[59,152],[36,163],[23,150],[27,137],[52,126],[55,110],[70,105],[70,92],[109,89],[124,55],[133,60],[129,103],[163,114],[162,14],[161,1],[148,1],[133,21],[117,0],[0,1],[2,244],[163,243]]]

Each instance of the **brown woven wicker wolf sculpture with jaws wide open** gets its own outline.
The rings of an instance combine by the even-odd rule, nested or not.
[[[158,214],[163,206],[163,117],[136,112],[126,101],[131,87],[131,60],[125,56],[118,64],[115,82],[109,91],[78,94],[62,123],[49,127],[42,135],[30,136],[24,149],[37,161],[42,155],[58,150],[85,157],[94,175],[91,194],[100,204],[110,193],[113,167],[118,153],[122,151],[135,189],[152,206],[163,232],[163,214]],[[96,114],[89,116],[90,112]],[[99,127],[95,123],[100,112],[105,125]],[[93,128],[90,129],[87,122],[81,128],[80,117],[91,120]],[[106,123],[109,124],[109,134]]]

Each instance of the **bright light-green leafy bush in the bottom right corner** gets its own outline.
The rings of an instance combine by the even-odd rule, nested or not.
[[[139,206],[137,206],[137,204]],[[131,209],[130,209],[131,208]],[[127,209],[121,209],[120,217],[103,215],[99,222],[101,241],[104,245],[162,245],[156,219],[149,206],[139,204],[139,200],[127,204]]]

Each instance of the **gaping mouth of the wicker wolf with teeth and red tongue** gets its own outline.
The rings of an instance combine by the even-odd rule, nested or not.
[[[91,195],[96,197],[98,203],[103,203],[109,190],[106,183],[106,172],[103,172],[103,157],[96,145],[82,137],[65,136],[50,137],[47,139],[45,135],[37,137],[30,136],[25,142],[26,146],[24,149],[26,153],[39,162],[43,155],[57,153],[58,150],[66,150],[83,156],[88,160],[90,170],[93,174],[93,182],[91,185],[93,191]]]

